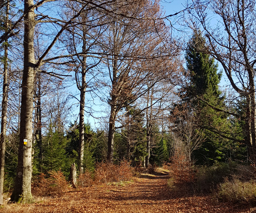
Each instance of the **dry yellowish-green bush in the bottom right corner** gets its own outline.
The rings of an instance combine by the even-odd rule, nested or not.
[[[242,182],[237,178],[232,181],[226,179],[224,183],[219,184],[217,198],[232,203],[250,203],[256,202],[256,182]]]

